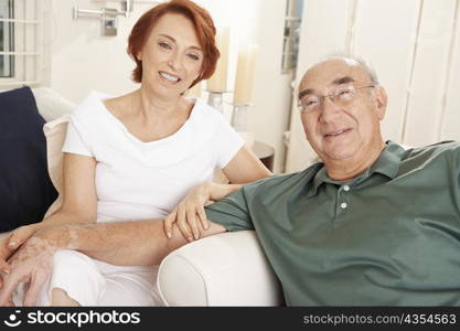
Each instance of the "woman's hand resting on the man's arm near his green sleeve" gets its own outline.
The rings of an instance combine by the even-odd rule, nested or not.
[[[208,222],[204,205],[211,199],[211,191],[214,183],[199,184],[185,195],[179,205],[164,218],[164,233],[168,238],[172,237],[172,225],[178,223],[184,238],[189,242],[200,238],[199,224],[203,229],[207,229]]]

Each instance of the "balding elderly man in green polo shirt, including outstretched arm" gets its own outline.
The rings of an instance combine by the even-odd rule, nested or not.
[[[460,305],[460,145],[385,143],[386,94],[363,62],[323,61],[299,90],[307,139],[322,161],[210,205],[218,224],[205,235],[255,228],[290,306]],[[104,245],[100,227],[114,234]],[[33,302],[57,248],[153,264],[185,244],[173,229],[167,239],[158,221],[45,228],[17,254],[23,261],[13,260],[0,303],[31,275]],[[45,253],[29,258],[39,246]]]

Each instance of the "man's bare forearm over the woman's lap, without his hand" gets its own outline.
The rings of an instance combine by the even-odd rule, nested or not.
[[[145,220],[50,227],[38,235],[56,248],[75,249],[114,265],[151,266],[188,244],[178,226],[172,231],[173,237],[169,239],[162,220]],[[201,231],[205,237],[225,232],[225,227],[212,223]]]

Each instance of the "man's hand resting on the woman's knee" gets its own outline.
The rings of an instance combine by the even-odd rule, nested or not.
[[[51,275],[56,249],[46,231],[39,231],[29,238],[9,259],[11,270],[3,277],[0,306],[14,306],[12,293],[20,282],[28,284],[23,305],[34,306],[42,286]]]

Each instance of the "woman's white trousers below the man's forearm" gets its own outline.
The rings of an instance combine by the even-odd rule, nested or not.
[[[50,306],[54,288],[64,290],[81,306],[162,306],[157,274],[158,266],[115,266],[76,250],[61,249],[54,255],[52,275],[36,306]],[[23,293],[18,296],[22,302]]]

